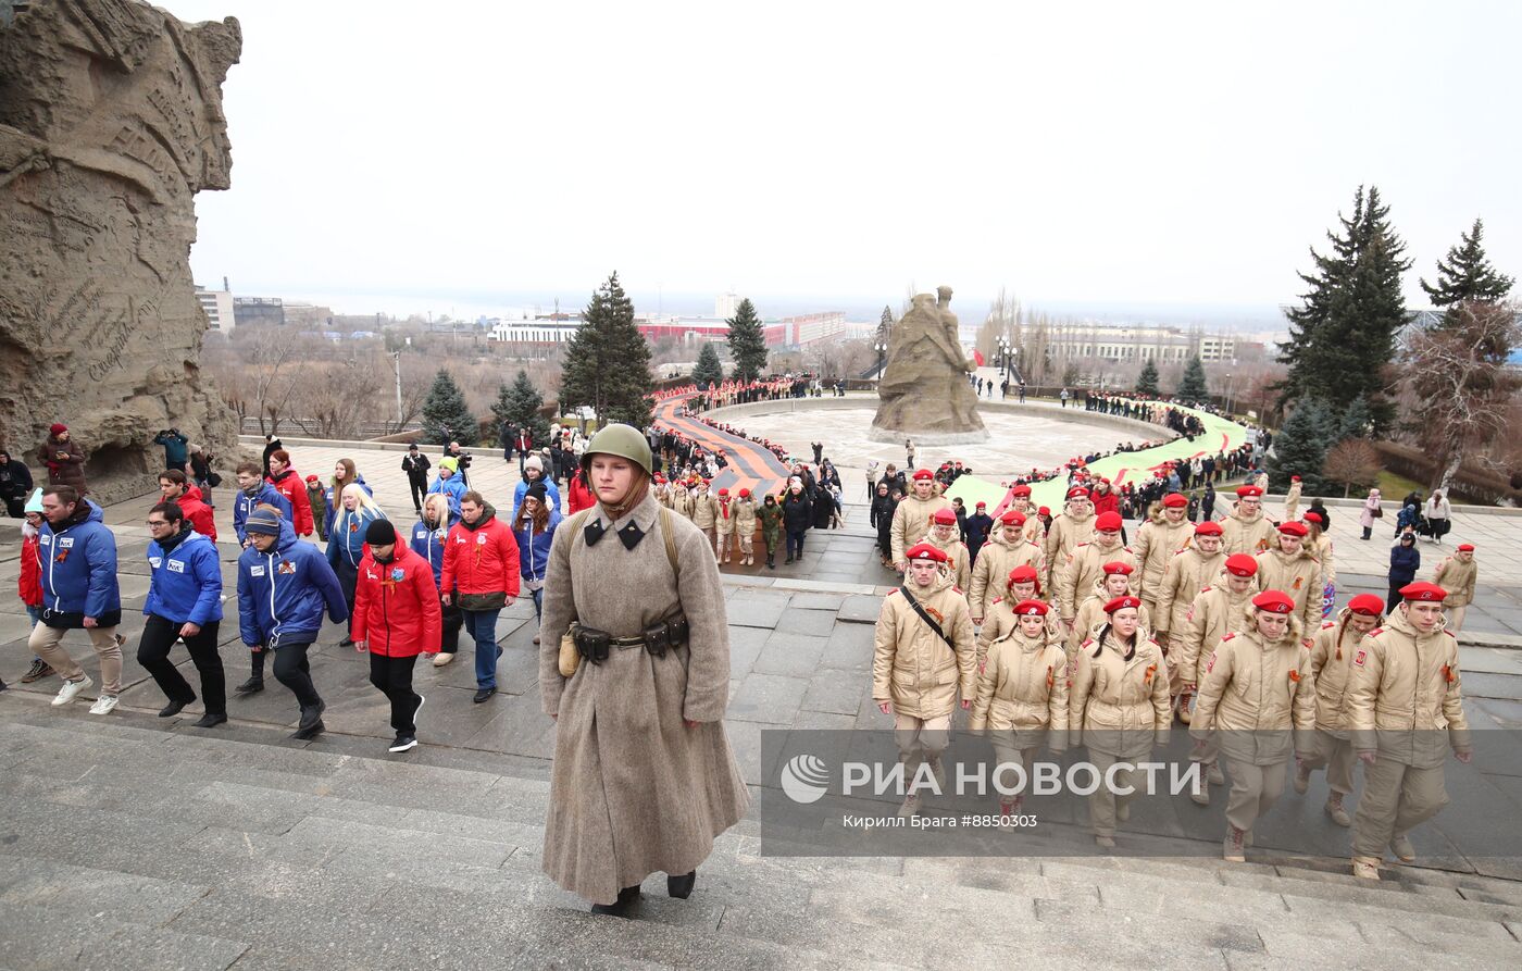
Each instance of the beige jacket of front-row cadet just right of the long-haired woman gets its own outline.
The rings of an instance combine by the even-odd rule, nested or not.
[[[1277,644],[1262,639],[1250,609],[1237,627],[1240,633],[1221,638],[1205,659],[1189,734],[1198,740],[1215,737],[1227,758],[1253,766],[1310,752],[1317,689],[1310,647],[1300,636],[1298,619],[1291,615],[1289,630]]]

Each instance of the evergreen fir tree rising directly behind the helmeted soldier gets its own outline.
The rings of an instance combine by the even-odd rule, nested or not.
[[[650,425],[650,344],[635,326],[635,304],[618,274],[592,294],[581,326],[566,341],[560,399],[571,408],[587,405],[598,425]]]

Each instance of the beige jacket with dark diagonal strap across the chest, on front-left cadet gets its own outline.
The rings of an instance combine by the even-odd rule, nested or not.
[[[872,700],[892,702],[893,712],[915,718],[939,718],[956,709],[957,694],[971,700],[976,689],[977,656],[973,618],[966,598],[941,575],[931,592],[921,594],[907,581],[919,606],[956,644],[951,650],[895,589],[883,600],[877,616],[872,653]]]

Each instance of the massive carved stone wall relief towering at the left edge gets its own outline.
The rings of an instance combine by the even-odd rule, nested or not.
[[[0,443],[38,470],[53,422],[97,501],[152,489],[161,428],[222,457],[237,423],[201,373],[195,193],[227,189],[237,21],[139,0],[35,0],[0,20]],[[40,478],[46,482],[46,473]]]

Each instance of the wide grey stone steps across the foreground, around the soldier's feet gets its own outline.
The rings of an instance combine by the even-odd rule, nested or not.
[[[0,700],[0,966],[18,971],[1522,966],[1522,884],[1505,880],[773,858],[753,820],[689,901],[654,877],[635,919],[594,916],[540,872],[542,759],[379,759],[23,699]]]

